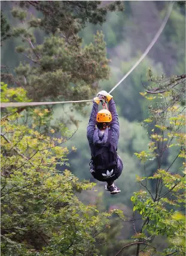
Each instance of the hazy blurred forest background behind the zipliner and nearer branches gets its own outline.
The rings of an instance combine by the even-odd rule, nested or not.
[[[102,1],[102,5],[104,6],[110,2],[111,1],[108,0]],[[111,67],[111,75],[109,79],[106,80],[108,70],[100,71],[102,72],[102,75],[100,75],[102,81],[99,81],[99,88],[101,90],[111,90],[122,76],[127,73],[130,67],[132,67],[136,59],[141,56],[142,52],[144,52],[153,39],[158,28],[160,28],[168,5],[169,1],[166,0],[126,0],[124,1],[124,11],[108,13],[106,15],[106,22],[103,23],[103,25],[89,24],[86,28],[81,29],[79,35],[83,38],[83,46],[93,41],[93,37],[97,31],[102,31],[105,35],[106,56],[109,59],[108,63]],[[1,10],[11,26],[19,24],[19,20],[16,21],[15,17],[10,13],[13,6],[14,1],[1,2]],[[29,7],[28,10],[30,13],[36,13],[34,7]],[[39,14],[35,15],[39,16]],[[149,130],[147,127],[142,126],[142,121],[148,118],[148,106],[150,103],[144,100],[140,92],[144,91],[143,83],[147,81],[146,76],[147,73],[149,73],[150,67],[156,75],[164,73],[169,77],[184,73],[186,61],[185,22],[185,8],[178,7],[178,5],[175,4],[170,19],[160,38],[158,38],[157,43],[153,46],[153,49],[151,49],[144,61],[142,61],[120,87],[112,93],[117,105],[120,120],[118,154],[120,154],[124,163],[123,174],[116,181],[117,186],[121,189],[121,193],[111,197],[111,195],[105,191],[103,184],[97,183],[94,189],[82,191],[81,194],[78,195],[78,198],[80,198],[84,204],[96,205],[100,212],[120,209],[127,219],[133,218],[133,203],[131,197],[134,192],[140,189],[139,184],[136,183],[136,175],[139,177],[145,175],[144,165],[141,164],[134,153],[147,150],[148,144],[150,143],[148,136]],[[41,42],[45,36],[44,31],[39,32],[37,29],[35,29],[34,34],[38,42]],[[24,63],[25,61],[25,56],[19,54],[19,52],[22,53],[22,49],[15,50],[15,47],[19,44],[19,38],[10,37],[2,43],[0,48],[1,65],[6,66],[8,70],[11,69],[13,73],[14,68],[19,66],[19,62],[22,61]],[[103,61],[105,61],[105,59],[103,59]],[[8,76],[5,77],[4,75],[6,73],[5,68],[1,67],[1,69],[1,78],[7,82]],[[17,69],[17,73],[19,75],[23,73],[23,67]],[[88,83],[90,82],[92,81],[88,81]],[[44,85],[42,86],[44,88]],[[97,84],[93,84],[93,87],[94,95],[96,95],[99,88],[97,88]],[[84,93],[83,89],[81,93],[84,96],[83,99],[87,99],[89,94]],[[91,93],[93,97],[93,91]],[[69,96],[69,91],[66,91],[66,94]],[[44,96],[42,95],[42,99],[44,99]],[[35,96],[35,99],[38,101],[41,99],[39,93]],[[69,99],[71,99],[71,96]],[[81,109],[71,109],[69,105],[55,106],[52,110],[53,120],[50,125],[54,125],[55,121],[60,117],[61,122],[63,121],[63,133],[69,133],[69,137],[74,133],[72,138],[65,142],[65,147],[72,148],[72,151],[68,153],[66,157],[68,160],[65,159],[63,162],[68,162],[66,163],[67,166],[57,165],[57,169],[63,172],[68,168],[80,181],[86,179],[96,182],[89,172],[90,150],[86,138],[86,127],[89,121],[91,106],[92,104],[83,105]],[[68,128],[68,130],[66,128]],[[58,136],[59,132],[56,134]],[[164,166],[164,168],[169,166],[173,159],[175,159],[176,154],[177,151],[174,148],[170,148],[163,158],[162,166]],[[181,173],[181,164],[182,160],[178,160],[172,166],[171,172]],[[156,168],[156,162],[149,162],[146,166],[148,175],[153,175]],[[153,187],[154,183],[152,181],[151,189],[153,189]],[[138,215],[136,216],[136,218],[138,218]],[[111,228],[109,228],[106,233],[103,231],[102,239],[105,239],[103,239],[104,242],[102,239],[96,242],[96,248],[99,249],[99,252],[96,252],[97,255],[115,255],[123,245],[131,242],[131,237],[134,234],[132,222],[121,222],[116,219],[114,221],[113,219],[110,225]],[[140,229],[140,221],[136,224],[136,227]],[[167,243],[165,236],[163,236],[163,239],[157,236],[153,241],[153,245],[161,252],[166,248]],[[120,255],[136,255],[135,250],[136,249],[127,248],[127,250],[121,252]],[[8,254],[8,252],[6,253],[7,254],[4,255],[11,255]],[[19,253],[17,255],[21,255]],[[51,253],[50,255],[54,254]],[[76,254],[69,252],[69,254],[66,253],[65,255]],[[86,253],[80,255],[86,255]],[[141,255],[156,254],[154,254],[154,252],[141,252]]]

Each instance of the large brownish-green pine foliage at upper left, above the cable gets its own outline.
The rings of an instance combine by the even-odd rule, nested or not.
[[[16,76],[1,73],[0,78],[24,87],[32,100],[88,99],[98,82],[108,79],[109,59],[101,32],[87,46],[78,32],[88,22],[102,24],[108,11],[123,10],[121,2],[117,0],[105,7],[92,0],[20,1],[19,4],[22,8],[12,10],[19,20],[12,35],[22,39],[16,51],[24,59],[16,67]],[[28,12],[30,7],[38,10],[32,12],[34,16]],[[38,43],[34,29],[44,30],[42,42]]]

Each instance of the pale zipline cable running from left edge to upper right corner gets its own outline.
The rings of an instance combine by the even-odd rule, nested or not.
[[[161,35],[161,32],[163,31],[164,27],[166,26],[166,23],[170,17],[170,14],[172,12],[174,2],[170,2],[169,8],[167,10],[167,14],[164,17],[164,20],[160,26],[160,29],[158,29],[157,33],[155,34],[153,40],[145,50],[145,52],[142,54],[141,58],[138,59],[138,61],[134,64],[134,66],[129,70],[129,72],[126,73],[126,75],[123,76],[123,78],[118,82],[117,85],[115,85],[111,91],[109,91],[109,94],[112,93],[112,91],[115,90],[115,88],[118,87],[118,85],[121,84],[121,82],[124,81],[124,79],[127,78],[127,76],[130,75],[130,73],[133,72],[134,69],[141,63],[141,61],[147,56],[148,52],[151,50],[151,48],[154,46],[155,42],[158,40],[158,38]],[[39,105],[56,105],[56,104],[63,104],[63,103],[81,103],[81,102],[93,102],[94,100],[70,100],[67,102],[4,102],[0,103],[0,108],[8,108],[8,107],[20,107],[20,106],[39,106]]]

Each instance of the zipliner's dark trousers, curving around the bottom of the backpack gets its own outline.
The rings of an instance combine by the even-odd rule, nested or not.
[[[99,172],[96,172],[94,170],[93,163],[90,165],[90,173],[93,175],[93,177],[99,181],[106,181],[108,184],[112,184],[114,182],[114,180],[116,180],[118,177],[120,177],[122,171],[123,171],[123,162],[122,162],[120,156],[118,156],[118,160],[117,160],[117,172],[115,173],[115,175],[113,177],[110,177],[110,178],[104,178],[102,176],[102,174],[100,174]]]

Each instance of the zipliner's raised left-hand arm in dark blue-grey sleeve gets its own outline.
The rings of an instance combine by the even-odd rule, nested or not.
[[[87,126],[87,139],[89,140],[89,142],[93,142],[97,112],[98,112],[98,104],[96,102],[93,102],[92,111],[89,118],[89,124]]]

